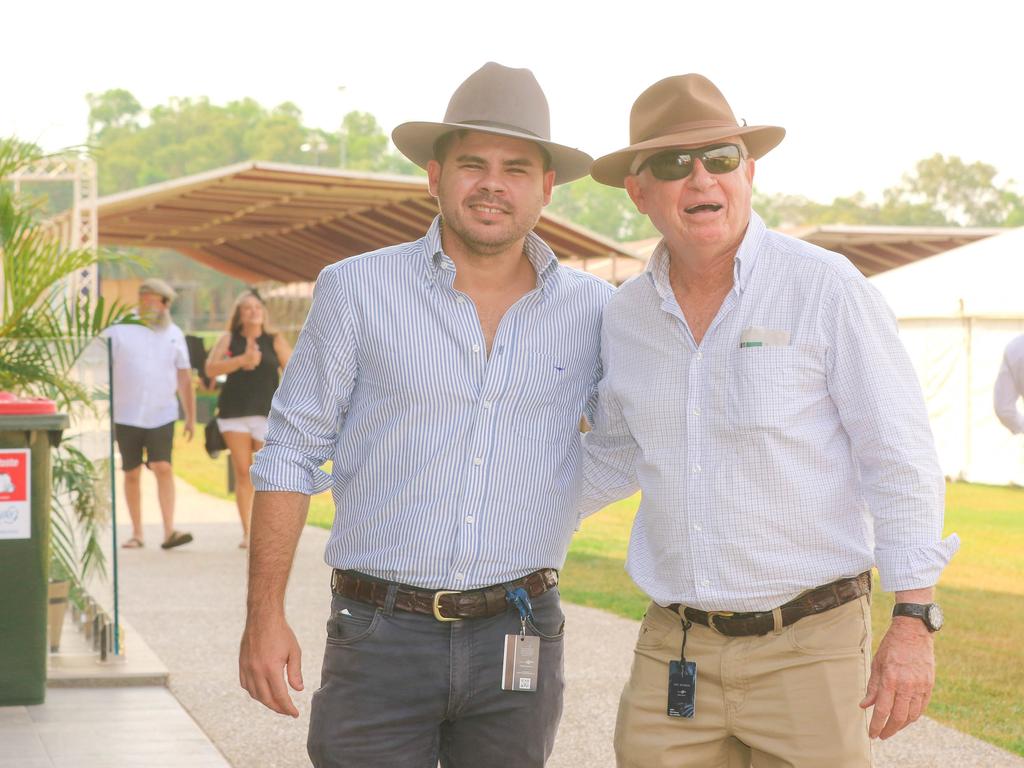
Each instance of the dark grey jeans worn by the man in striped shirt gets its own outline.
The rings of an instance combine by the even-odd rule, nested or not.
[[[536,692],[501,688],[512,606],[442,623],[335,596],[307,749],[316,768],[543,766],[562,714],[564,615],[557,589],[534,598],[541,638]],[[345,611],[345,612],[343,612]]]

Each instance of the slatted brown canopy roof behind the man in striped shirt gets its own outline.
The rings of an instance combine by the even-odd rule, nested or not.
[[[248,282],[310,281],[328,264],[423,236],[424,178],[241,163],[97,202],[102,245],[172,248]],[[570,266],[613,280],[623,246],[548,213],[537,232]]]

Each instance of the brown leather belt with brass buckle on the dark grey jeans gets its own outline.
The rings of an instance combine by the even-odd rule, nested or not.
[[[530,597],[543,595],[557,585],[558,571],[554,568],[535,570],[508,584],[512,589],[522,587]],[[497,616],[509,607],[509,602],[505,599],[505,585],[501,584],[456,592],[424,590],[404,584],[385,582],[354,570],[335,569],[331,577],[331,591],[334,594],[380,607],[384,607],[387,603],[387,593],[392,586],[398,588],[394,599],[395,608],[414,613],[426,613],[438,622]]]

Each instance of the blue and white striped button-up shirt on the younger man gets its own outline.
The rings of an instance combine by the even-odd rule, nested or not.
[[[612,289],[532,232],[524,250],[537,288],[489,356],[439,217],[421,240],[321,272],[252,477],[257,490],[332,487],[329,565],[455,590],[561,567]]]

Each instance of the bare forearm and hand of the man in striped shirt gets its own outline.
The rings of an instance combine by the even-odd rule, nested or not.
[[[257,701],[282,715],[299,716],[285,684],[302,690],[302,651],[285,617],[285,590],[309,511],[309,497],[257,492],[249,544],[246,629],[239,650],[239,682]]]

